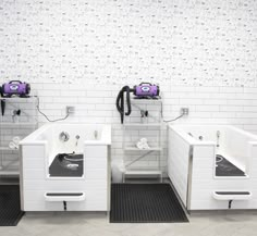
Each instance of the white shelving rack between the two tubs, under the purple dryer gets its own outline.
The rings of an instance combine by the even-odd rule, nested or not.
[[[123,153],[125,171],[123,182],[134,177],[160,177],[162,171],[162,121],[161,100],[132,99],[132,113],[124,117]],[[147,115],[146,115],[147,111]],[[149,148],[139,149],[136,142],[147,138]],[[149,164],[151,162],[151,164]],[[138,163],[139,166],[138,166]],[[143,164],[145,163],[145,164]]]

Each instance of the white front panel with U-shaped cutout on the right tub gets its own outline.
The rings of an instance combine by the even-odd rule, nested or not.
[[[253,149],[252,173],[257,172],[257,148]],[[256,160],[255,160],[256,159]],[[218,178],[215,171],[215,147],[194,147],[191,210],[222,210],[229,208],[228,200],[217,200],[212,194],[217,190],[250,191],[250,200],[234,200],[232,209],[257,208],[257,178]]]

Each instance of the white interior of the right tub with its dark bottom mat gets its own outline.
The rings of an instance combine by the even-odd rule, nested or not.
[[[229,125],[184,125],[179,131],[195,145],[215,147],[215,175],[246,176],[249,167],[249,141],[254,135]]]

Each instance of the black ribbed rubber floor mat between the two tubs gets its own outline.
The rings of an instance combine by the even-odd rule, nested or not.
[[[112,184],[111,223],[188,222],[169,184]]]

